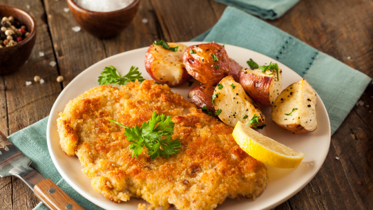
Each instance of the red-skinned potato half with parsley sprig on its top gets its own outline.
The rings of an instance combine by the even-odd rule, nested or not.
[[[279,78],[277,78],[276,70],[267,70],[262,73],[259,68],[253,70],[245,68],[240,72],[240,84],[254,101],[263,106],[272,106],[282,90],[283,76],[281,73],[282,70],[278,68]]]

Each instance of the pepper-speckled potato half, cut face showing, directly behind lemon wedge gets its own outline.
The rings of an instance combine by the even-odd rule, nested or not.
[[[254,115],[258,116],[259,124],[254,126],[261,126],[265,122],[265,116],[260,111],[258,105],[245,93],[242,86],[235,82],[232,76],[227,76],[220,81],[221,85],[216,86],[213,100],[215,109],[222,111],[219,118],[225,124],[234,127],[240,121],[247,124],[251,121]],[[247,117],[245,117],[247,116]],[[253,125],[250,125],[254,127]]]

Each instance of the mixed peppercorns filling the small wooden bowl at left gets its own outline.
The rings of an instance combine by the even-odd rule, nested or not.
[[[30,35],[26,26],[14,17],[3,17],[0,23],[0,48],[14,46]]]

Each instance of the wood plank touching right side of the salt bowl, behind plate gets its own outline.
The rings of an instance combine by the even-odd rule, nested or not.
[[[143,22],[144,21],[144,22]],[[142,0],[133,22],[119,36],[104,39],[106,55],[112,56],[128,50],[150,46],[153,41],[164,39],[150,0]]]

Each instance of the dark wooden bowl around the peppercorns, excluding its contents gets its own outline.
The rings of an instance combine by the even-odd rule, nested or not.
[[[25,64],[36,39],[36,22],[27,12],[11,6],[0,5],[0,17],[15,17],[27,27],[30,35],[15,46],[0,48],[0,75],[14,73]]]

